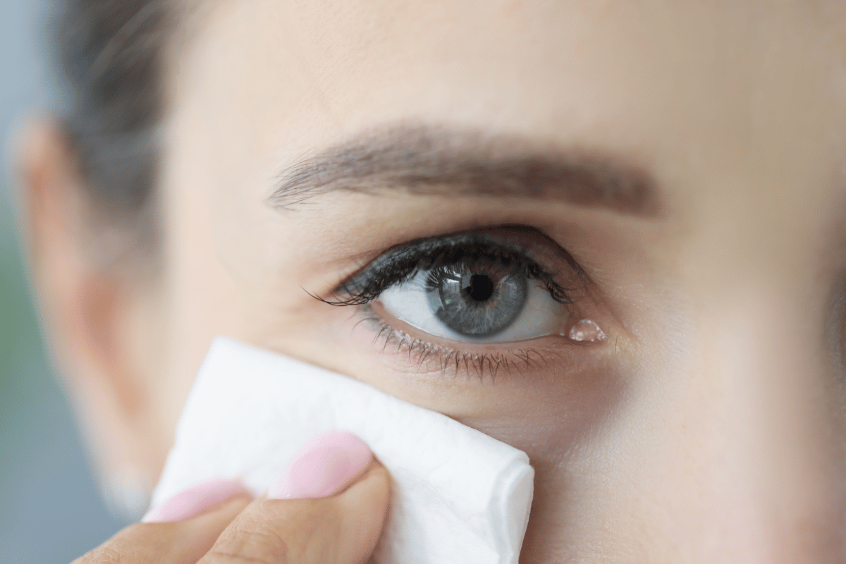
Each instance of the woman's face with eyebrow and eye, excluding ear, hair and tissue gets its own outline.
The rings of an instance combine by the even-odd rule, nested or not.
[[[151,468],[226,335],[525,451],[522,561],[841,561],[842,7],[242,0],[184,22],[135,315]]]

